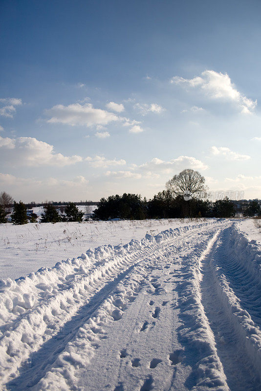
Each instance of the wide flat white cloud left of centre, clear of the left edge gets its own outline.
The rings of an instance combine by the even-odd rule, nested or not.
[[[51,117],[47,120],[48,123],[61,123],[71,126],[107,125],[109,122],[120,119],[116,114],[109,111],[95,109],[91,103],[83,105],[74,103],[68,106],[56,105],[45,110],[45,113]]]

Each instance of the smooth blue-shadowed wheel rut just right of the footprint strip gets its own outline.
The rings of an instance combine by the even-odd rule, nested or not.
[[[215,279],[214,265],[216,263],[230,262],[230,257],[234,258],[235,262],[232,251],[229,251],[227,255],[228,248],[231,249],[228,244],[229,232],[231,228],[224,229],[218,235],[209,253],[200,262],[201,303],[215,338],[218,357],[222,363],[229,389],[231,391],[258,391],[261,390],[260,373],[253,365],[253,357],[250,357],[251,352],[249,355],[244,337],[231,320],[229,303],[224,303],[220,298],[221,286]],[[229,265],[226,269],[228,268]],[[236,272],[236,268],[230,270],[231,275],[233,271]]]

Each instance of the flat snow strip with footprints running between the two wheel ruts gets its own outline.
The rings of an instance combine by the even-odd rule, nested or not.
[[[208,236],[209,235],[211,236],[211,233],[208,233]],[[200,239],[198,238],[198,240],[196,241],[198,248],[201,248],[201,252],[203,248],[208,244],[208,241],[207,243],[205,243],[205,239],[206,237],[201,236]],[[186,252],[187,258],[190,259],[191,249],[188,248],[185,242],[183,246],[183,251]],[[175,252],[170,253],[169,255],[173,257],[172,259],[174,261],[177,261],[177,254]],[[100,355],[98,355],[98,352],[96,353],[95,357],[93,357],[91,363],[89,364],[88,369],[86,369],[85,375],[82,374],[80,376],[83,380],[80,383],[79,389],[91,391],[104,390],[107,388],[109,391],[140,391],[147,389],[157,391],[169,389],[179,391],[187,390],[187,388],[183,387],[181,384],[177,386],[179,381],[176,378],[177,373],[180,375],[179,379],[181,378],[183,380],[187,369],[185,366],[183,366],[183,364],[180,364],[183,361],[184,351],[183,348],[177,344],[174,336],[175,327],[172,322],[175,313],[174,311],[177,311],[177,309],[174,310],[174,307],[171,304],[167,306],[167,303],[173,302],[174,297],[172,297],[173,293],[170,293],[173,291],[172,285],[168,285],[169,279],[166,280],[167,274],[164,274],[164,270],[166,271],[169,267],[166,263],[169,262],[168,260],[166,260],[166,258],[164,261],[164,257],[162,257],[161,261],[158,260],[157,262],[158,267],[156,267],[154,270],[155,276],[154,278],[150,279],[150,284],[154,288],[154,292],[151,289],[147,290],[149,294],[147,298],[147,304],[143,305],[141,308],[141,314],[143,316],[140,319],[141,326],[137,327],[136,335],[135,333],[133,334],[133,325],[131,326],[131,329],[129,328],[129,326],[127,327],[127,325],[131,325],[132,322],[135,323],[137,313],[135,305],[137,304],[138,299],[130,305],[124,317],[124,324],[127,327],[124,330],[124,334],[122,334],[122,330],[118,330],[118,332],[116,332],[117,339],[122,342],[119,351],[124,350],[124,356],[121,355],[122,358],[120,360],[120,363],[118,364],[115,360],[115,357],[113,356],[114,348],[112,347],[111,342],[109,346],[108,343],[105,342],[107,343],[107,349],[103,348],[103,354],[106,358],[101,355],[101,352]],[[168,276],[169,275],[173,275],[173,272],[168,272]],[[165,280],[165,285],[162,281],[163,278]],[[167,285],[170,289],[168,294],[165,291]],[[157,292],[155,292],[156,290]],[[142,292],[142,297],[140,297],[140,295],[138,296],[140,300],[144,298],[145,292]],[[150,295],[155,295],[154,297],[152,296],[155,301],[150,300]],[[153,314],[155,314],[156,308],[161,308],[161,312],[159,316],[154,318]],[[140,314],[140,311],[138,312]],[[147,320],[145,321],[146,312]],[[153,318],[154,321],[152,325],[151,320]],[[142,319],[145,322],[143,321],[142,323]],[[187,326],[188,325],[184,327]],[[111,338],[115,338],[115,334]],[[115,341],[114,344],[115,346],[117,346],[118,342]],[[109,354],[109,358],[107,358],[107,354]],[[145,354],[147,358],[144,358]],[[136,360],[138,360],[138,365],[133,366],[131,363],[132,361],[136,362]],[[160,362],[158,362],[157,360],[160,360]],[[153,365],[154,361],[158,362],[158,364],[155,366]],[[110,374],[109,371],[105,371],[106,375],[103,376],[106,376],[106,378],[103,379],[103,381],[96,380],[95,374],[93,375],[92,373],[92,371],[94,371],[94,368],[94,373],[103,373],[101,367],[99,367],[100,370],[96,370],[96,367],[100,365],[100,362],[103,363],[107,370],[108,367],[111,367],[113,365],[113,373]],[[135,369],[133,369],[133,367]],[[115,382],[115,372],[117,371],[119,374],[117,377],[117,382]],[[96,383],[94,384],[90,383],[90,373],[92,373],[91,378],[95,378]],[[221,390],[221,388],[218,388],[216,390]],[[222,390],[228,390],[228,387],[222,388]]]

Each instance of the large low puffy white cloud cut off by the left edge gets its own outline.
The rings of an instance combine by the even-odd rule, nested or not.
[[[66,166],[83,160],[81,156],[64,156],[55,153],[53,145],[39,141],[34,137],[0,137],[2,162],[9,165],[24,166]]]

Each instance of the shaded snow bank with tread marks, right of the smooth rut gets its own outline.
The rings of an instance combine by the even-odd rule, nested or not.
[[[228,236],[229,244],[223,253],[211,260],[213,279],[227,318],[248,359],[261,373],[261,329],[253,320],[260,316],[261,247],[256,240],[249,241],[235,223],[224,235]]]

